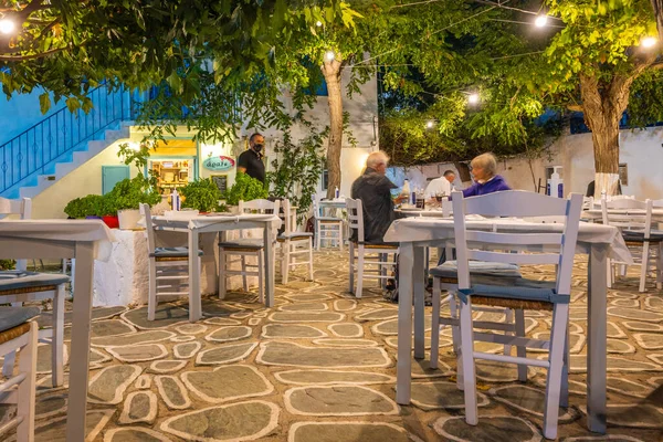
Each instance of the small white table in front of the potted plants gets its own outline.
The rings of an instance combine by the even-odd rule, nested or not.
[[[190,219],[152,217],[155,230],[186,232],[189,235],[189,274],[200,273],[200,263],[196,259],[200,239],[199,234],[217,234],[230,230],[263,229],[265,263],[265,305],[274,306],[274,242],[281,219],[273,214],[210,214]],[[189,320],[194,323],[202,316],[200,298],[200,281],[189,281]]]

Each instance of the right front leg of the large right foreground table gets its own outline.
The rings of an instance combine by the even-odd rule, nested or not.
[[[587,307],[587,424],[606,433],[607,358],[607,249],[592,244],[589,257]]]

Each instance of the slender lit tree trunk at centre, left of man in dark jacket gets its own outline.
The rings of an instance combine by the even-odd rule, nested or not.
[[[338,56],[338,55],[337,55]],[[325,61],[322,71],[327,82],[329,102],[329,139],[327,145],[327,198],[334,198],[340,188],[340,149],[343,147],[343,90],[340,84],[341,61]]]

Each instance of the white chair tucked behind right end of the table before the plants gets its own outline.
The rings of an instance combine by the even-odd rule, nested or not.
[[[239,203],[240,213],[278,213],[280,201],[252,200],[241,201]],[[223,299],[227,291],[227,278],[232,275],[241,275],[244,283],[244,291],[249,291],[248,276],[257,276],[257,293],[260,302],[264,302],[264,260],[263,238],[244,238],[240,231],[240,238],[236,240],[219,242],[219,297]],[[239,260],[229,260],[232,255],[240,256]],[[248,256],[255,256],[257,265],[246,264]],[[241,263],[241,270],[232,270],[234,263]]]

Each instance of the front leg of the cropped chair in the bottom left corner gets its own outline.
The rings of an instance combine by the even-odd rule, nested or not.
[[[28,333],[28,345],[21,350],[19,370],[25,373],[25,379],[19,385],[19,403],[17,417],[23,418],[17,429],[17,440],[34,441],[34,402],[36,398],[36,343],[38,343],[36,323],[30,325]]]

